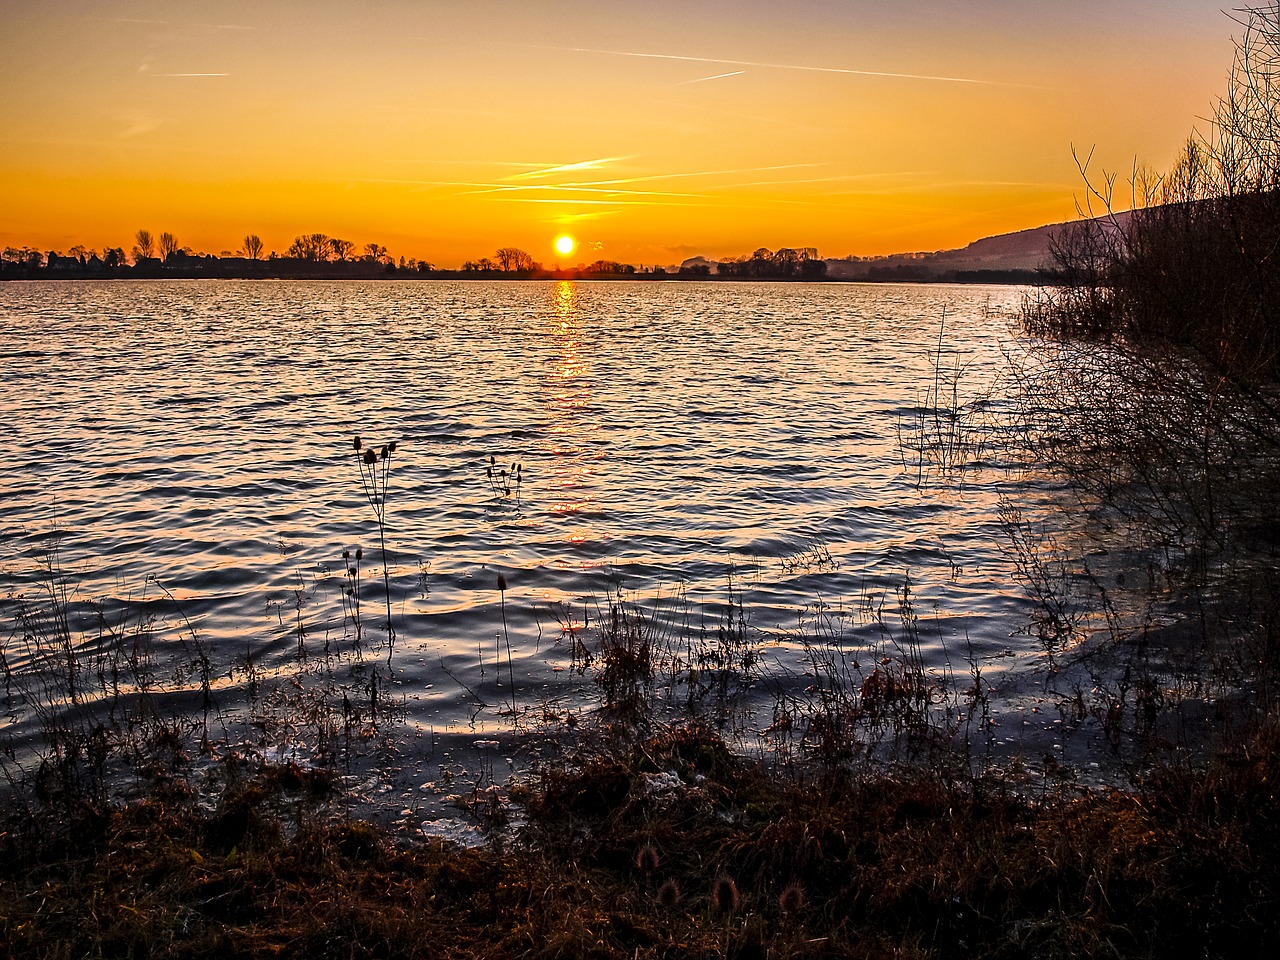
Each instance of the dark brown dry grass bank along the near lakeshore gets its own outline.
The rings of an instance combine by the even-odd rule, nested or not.
[[[297,768],[0,838],[8,955],[1240,956],[1280,936],[1280,733],[1133,792],[778,781],[700,727],[544,771],[502,850],[323,814]]]

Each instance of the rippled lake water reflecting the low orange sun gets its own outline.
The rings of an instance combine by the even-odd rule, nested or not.
[[[998,443],[941,472],[922,472],[914,448],[943,317],[945,399],[956,362],[959,399],[974,399],[1005,369],[1020,298],[963,285],[3,284],[6,630],[19,600],[44,602],[56,541],[73,641],[143,627],[160,650],[197,641],[224,730],[269,678],[301,676],[301,689],[319,662],[376,662],[407,736],[475,742],[509,736],[535,705],[591,709],[596,685],[572,669],[563,628],[589,636],[620,595],[666,617],[672,648],[745,626],[763,658],[763,726],[769,703],[812,685],[806,639],[900,646],[909,581],[924,666],[963,672],[972,655],[998,685],[1039,653],[997,512],[1019,479]],[[989,397],[982,416],[998,420],[1000,404]],[[393,652],[356,435],[397,442]],[[518,498],[494,494],[490,457],[520,465]],[[357,548],[358,622],[343,559]],[[10,669],[38,655],[8,643]],[[376,671],[364,671],[366,690]],[[18,703],[10,733],[31,721]]]

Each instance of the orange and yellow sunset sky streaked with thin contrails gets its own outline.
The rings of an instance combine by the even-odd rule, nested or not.
[[[0,246],[946,250],[1074,218],[1073,150],[1170,166],[1235,29],[1220,0],[0,0]]]

